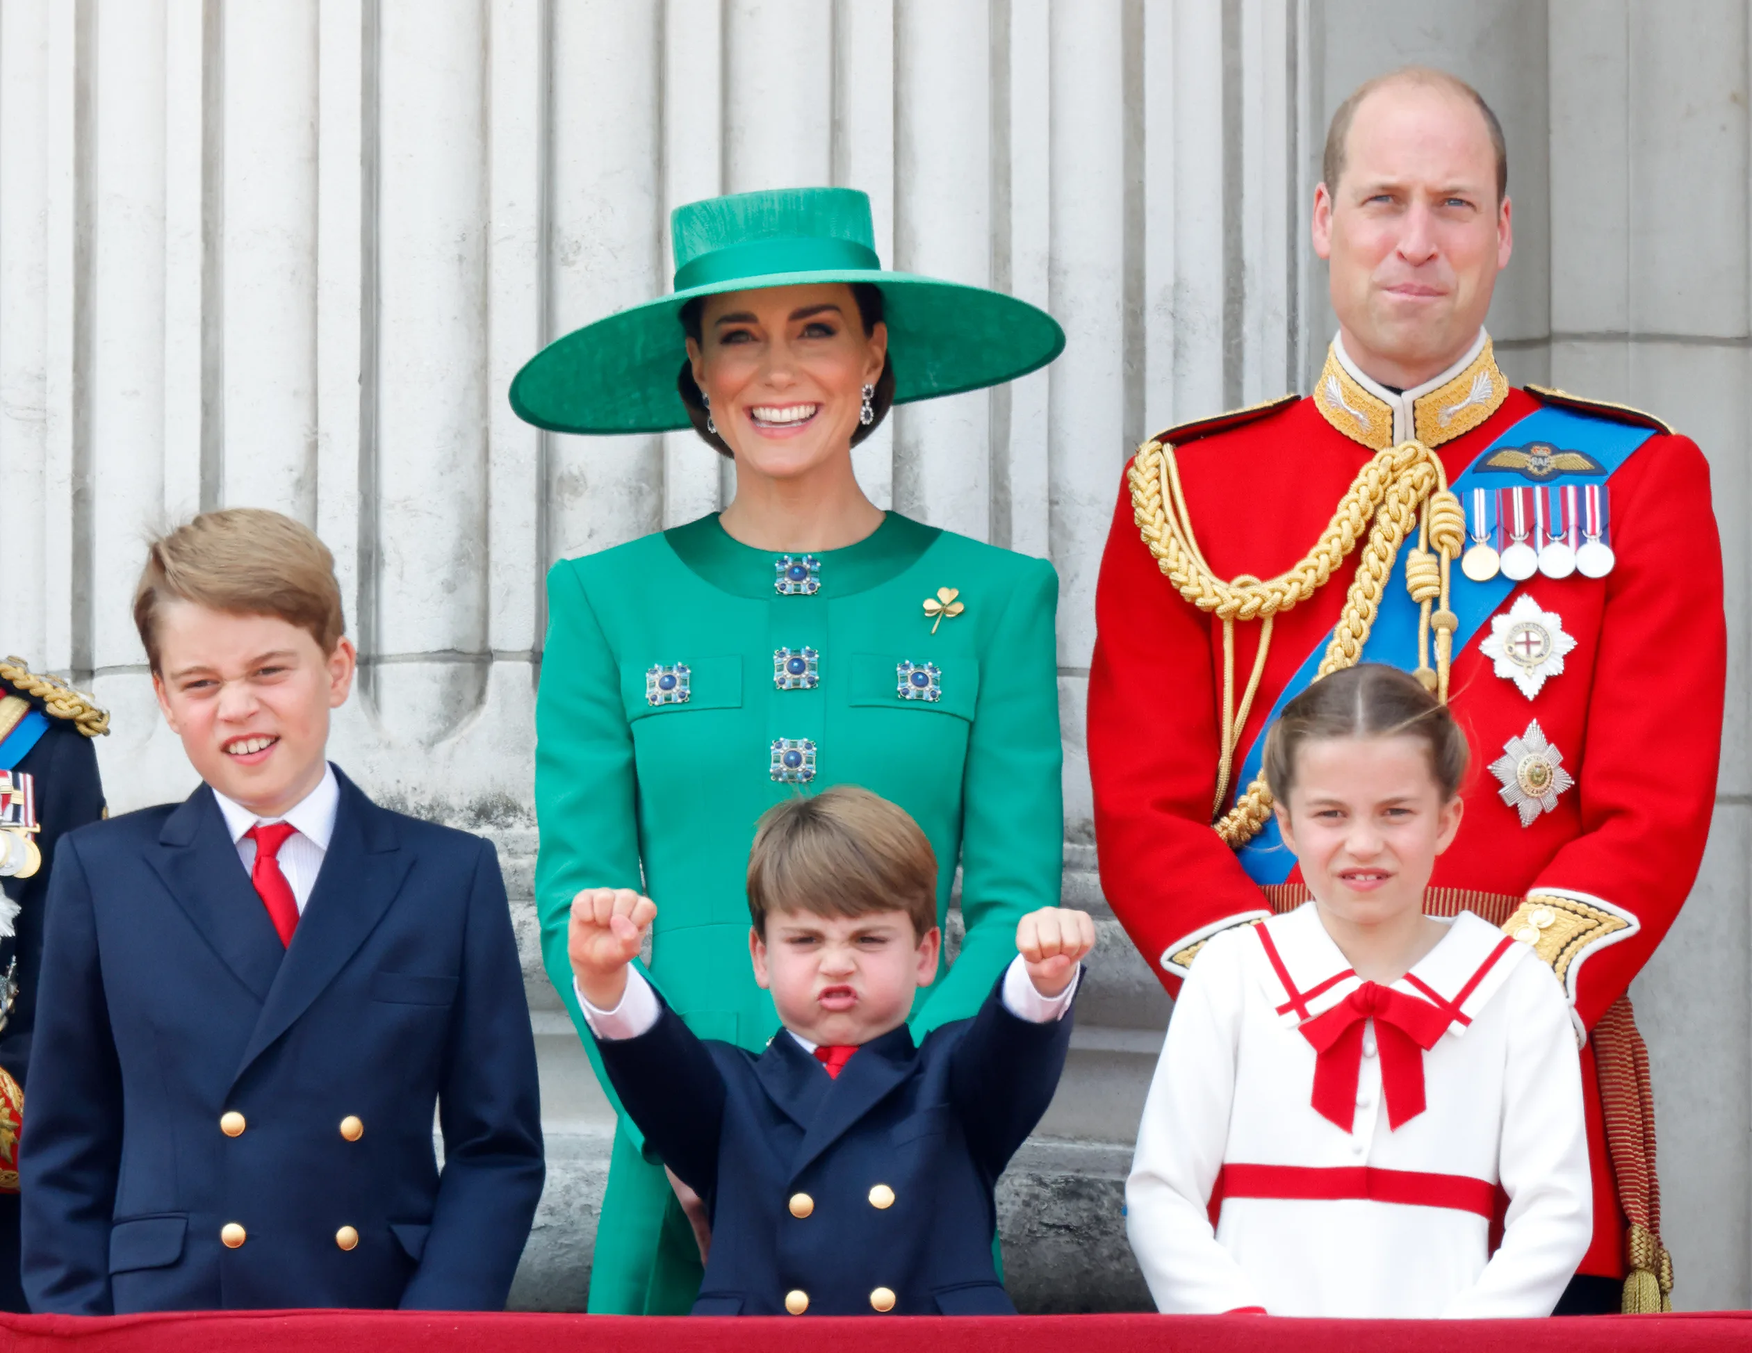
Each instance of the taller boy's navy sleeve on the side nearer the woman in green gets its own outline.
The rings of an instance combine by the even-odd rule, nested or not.
[[[541,1199],[541,1090],[499,859],[480,841],[438,1092],[443,1174],[403,1309],[501,1311]]]

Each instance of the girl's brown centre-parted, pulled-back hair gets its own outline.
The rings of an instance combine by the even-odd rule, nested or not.
[[[1323,738],[1421,738],[1442,803],[1459,792],[1472,761],[1466,734],[1452,712],[1424,684],[1384,662],[1358,662],[1325,676],[1284,706],[1265,734],[1265,783],[1289,810],[1296,752]]]

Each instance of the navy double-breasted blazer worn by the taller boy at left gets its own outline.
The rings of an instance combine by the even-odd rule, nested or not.
[[[336,778],[287,948],[205,785],[61,839],[19,1162],[33,1311],[503,1309],[543,1164],[498,857]]]

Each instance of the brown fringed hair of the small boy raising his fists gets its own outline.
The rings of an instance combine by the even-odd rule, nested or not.
[[[834,785],[769,808],[748,852],[748,917],[769,911],[867,917],[906,911],[913,934],[937,924],[937,854],[899,804]]]

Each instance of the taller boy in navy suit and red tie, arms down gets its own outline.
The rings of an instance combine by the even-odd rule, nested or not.
[[[298,522],[196,517],[152,543],[133,613],[205,783],[56,848],[32,1309],[501,1309],[543,1164],[492,847],[324,759],[354,648]]]

